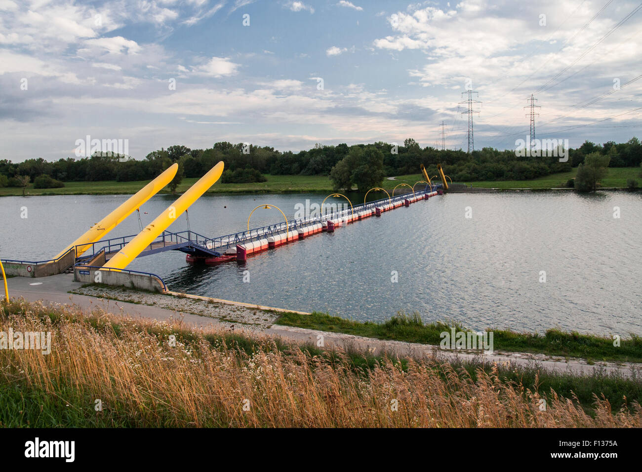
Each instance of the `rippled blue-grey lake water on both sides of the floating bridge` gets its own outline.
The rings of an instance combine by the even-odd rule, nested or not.
[[[206,195],[189,220],[193,231],[220,236],[246,227],[259,204],[290,216],[295,204],[324,197]],[[126,198],[0,198],[0,256],[49,259]],[[159,195],[147,202],[143,225],[173,200]],[[21,207],[28,218],[21,218]],[[472,218],[465,218],[466,207]],[[244,265],[191,267],[182,252],[165,252],[128,268],[159,274],[173,290],[356,320],[384,320],[403,310],[472,329],[642,335],[641,210],[640,193],[450,194],[250,256]],[[276,210],[258,209],[251,226],[280,218]],[[183,216],[170,229],[186,227]],[[134,213],[110,237],[138,231]]]

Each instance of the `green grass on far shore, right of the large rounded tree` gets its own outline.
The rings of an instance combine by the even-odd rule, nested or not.
[[[641,169],[639,167],[610,167],[609,173],[604,180],[602,180],[602,187],[616,187],[616,188],[626,188],[627,179],[636,179],[638,184],[642,183],[642,177],[640,177]],[[560,172],[551,175],[545,175],[544,177],[538,177],[534,180],[492,180],[488,182],[462,182],[470,186],[473,184],[473,187],[480,188],[498,188],[498,189],[514,189],[514,188],[530,188],[530,189],[550,189],[550,188],[566,188],[566,182],[569,179],[573,179],[577,174],[577,168],[569,172]],[[412,186],[417,180],[423,180],[420,174],[412,175],[400,175],[396,177],[397,183],[406,182],[410,183]],[[384,188],[386,187],[386,182],[394,182],[392,180],[385,181]],[[400,188],[401,189],[401,188]]]

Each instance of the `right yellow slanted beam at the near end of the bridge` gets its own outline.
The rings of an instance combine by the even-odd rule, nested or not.
[[[116,256],[109,259],[103,268],[124,269],[127,267],[161,232],[176,221],[177,216],[186,211],[189,205],[196,202],[207,189],[213,186],[214,182],[220,179],[222,173],[223,161],[220,161],[201,177],[196,184],[191,186],[186,193],[178,197],[178,200],[160,213],[143,231],[139,232],[133,240],[129,241],[123,249],[119,250]]]

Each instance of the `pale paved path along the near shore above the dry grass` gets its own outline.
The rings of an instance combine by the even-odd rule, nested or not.
[[[444,362],[483,360],[485,362],[512,363],[521,367],[537,366],[548,371],[573,372],[587,375],[593,374],[594,372],[603,372],[607,374],[618,373],[622,376],[630,377],[636,373],[639,378],[642,374],[642,364],[635,363],[596,362],[591,365],[582,359],[569,359],[567,361],[565,358],[553,358],[544,354],[499,353],[497,351],[493,354],[474,354],[463,351],[444,351],[435,345],[387,341],[276,324],[270,328],[257,328],[256,326],[223,322],[191,313],[180,313],[166,308],[67,293],[69,290],[78,288],[81,285],[82,283],[73,281],[73,275],[71,274],[52,275],[51,277],[40,277],[37,279],[31,277],[12,277],[8,279],[10,297],[23,297],[29,301],[43,301],[53,304],[73,304],[86,311],[99,308],[105,311],[105,313],[128,315],[132,318],[182,320],[187,326],[196,328],[206,326],[222,327],[230,330],[234,329],[234,331],[246,332],[248,334],[261,333],[281,337],[284,340],[310,342],[315,345],[318,345],[318,342],[322,340],[323,347],[326,349],[350,349],[352,351],[361,351],[374,355],[389,353],[399,357],[410,356],[416,359],[437,358]]]

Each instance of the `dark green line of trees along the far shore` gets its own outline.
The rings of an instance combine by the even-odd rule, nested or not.
[[[361,151],[355,151],[356,148]],[[372,150],[377,150],[376,156]],[[351,152],[351,157],[345,161]],[[357,183],[352,175],[347,176],[348,171],[352,174],[356,168],[360,168],[358,173],[364,173],[375,161],[376,166],[370,171],[375,171],[377,178],[378,175],[416,174],[419,172],[420,164],[424,164],[432,176],[436,165],[440,163],[446,168],[449,177],[458,182],[529,180],[568,171],[571,166],[576,167],[584,163],[584,158],[591,153],[609,156],[611,167],[639,166],[642,162],[642,144],[637,137],[620,144],[613,141],[604,144],[586,141],[582,146],[569,150],[568,162],[560,162],[558,157],[517,157],[514,150],[499,151],[494,148],[483,148],[471,154],[462,150],[442,151],[430,146],[421,148],[410,138],[404,141],[403,146],[394,146],[382,141],[355,146],[345,143],[336,146],[316,144],[310,150],[297,153],[280,152],[268,146],[220,142],[208,149],[170,146],[150,152],[141,161],[100,154],[81,159],[68,157],[55,162],[38,158],[14,164],[4,159],[0,160],[0,186],[21,186],[21,177],[28,177],[30,182],[35,182],[41,175],[49,176],[55,182],[41,180],[53,185],[58,185],[56,182],[69,181],[149,180],[172,162],[179,162],[179,173],[173,182],[175,187],[182,177],[200,177],[218,161],[225,162],[226,171],[222,182],[257,182],[265,179],[262,176],[265,173],[332,175],[334,169],[334,175],[340,180],[338,188],[343,188],[342,185],[346,184],[347,180]],[[344,164],[336,168],[342,161]]]

